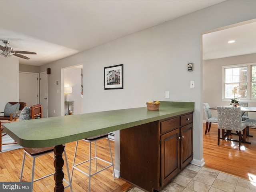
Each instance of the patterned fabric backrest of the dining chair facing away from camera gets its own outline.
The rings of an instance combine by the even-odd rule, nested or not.
[[[242,131],[240,107],[217,106],[218,129]]]

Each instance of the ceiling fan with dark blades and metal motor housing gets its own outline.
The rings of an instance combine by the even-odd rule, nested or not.
[[[5,44],[5,46],[0,45],[0,54],[4,57],[10,57],[10,56],[14,55],[16,57],[20,57],[23,59],[30,59],[24,55],[19,54],[19,53],[34,54],[34,55],[36,54],[35,52],[29,52],[29,51],[14,51],[13,48],[7,46],[7,44],[9,44],[10,41],[2,40],[2,42]]]

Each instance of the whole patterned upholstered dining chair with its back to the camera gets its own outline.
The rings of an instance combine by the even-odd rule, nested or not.
[[[241,108],[232,106],[217,106],[218,114],[218,145],[220,145],[220,129],[222,129],[222,139],[229,139],[231,131],[235,131],[239,136],[239,150],[241,148],[241,140],[243,131],[243,141],[246,140],[246,123],[241,119]],[[224,130],[226,134],[224,135]]]

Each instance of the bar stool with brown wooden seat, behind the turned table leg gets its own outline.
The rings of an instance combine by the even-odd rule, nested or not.
[[[63,145],[63,146],[65,147],[65,145]],[[23,168],[24,168],[25,157],[26,157],[26,154],[28,154],[30,157],[33,158],[32,174],[31,174],[31,185],[32,185],[31,191],[33,191],[33,182],[36,182],[38,180],[41,180],[41,179],[44,179],[46,177],[54,175],[54,173],[52,173],[52,174],[49,174],[49,175],[46,175],[46,176],[43,176],[41,178],[38,178],[38,179],[34,180],[34,168],[35,168],[36,158],[39,157],[39,156],[49,154],[49,153],[53,153],[53,149],[54,149],[54,146],[53,147],[44,147],[44,148],[27,148],[27,147],[24,147],[24,155],[23,155],[22,167],[21,167],[21,172],[20,172],[20,182],[22,180],[22,173],[23,173]],[[67,173],[68,173],[68,181],[66,179],[63,179],[63,181],[68,184],[64,188],[70,187],[70,191],[72,192],[71,179],[70,179],[70,174],[69,174],[69,170],[68,170],[68,160],[67,160],[65,149],[64,149],[64,156],[65,156],[65,163],[66,163]],[[54,155],[54,159],[55,159],[55,155]]]

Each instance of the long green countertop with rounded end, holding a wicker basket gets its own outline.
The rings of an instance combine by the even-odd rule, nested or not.
[[[193,111],[194,102],[161,102],[159,111],[149,111],[142,107],[24,120],[4,124],[4,131],[21,146],[39,148],[65,144]]]

